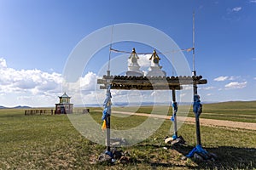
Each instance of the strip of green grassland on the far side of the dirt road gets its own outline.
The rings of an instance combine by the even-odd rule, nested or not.
[[[154,113],[159,114],[160,107],[155,106],[156,112],[152,112],[153,106],[142,106],[137,110],[137,113]],[[114,111],[129,111],[127,108],[113,108]],[[189,112],[188,112],[189,111]],[[172,108],[166,113],[172,115]],[[180,105],[177,111],[177,116],[194,117],[192,106]],[[234,101],[223,102],[216,104],[203,105],[203,113],[201,118],[227,120],[235,122],[256,122],[256,101]]]

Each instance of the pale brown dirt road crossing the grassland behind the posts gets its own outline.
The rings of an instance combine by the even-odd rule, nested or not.
[[[162,118],[162,119],[170,119],[171,118],[171,116],[165,116],[165,115],[133,113],[133,112],[126,112],[126,111],[112,111],[112,113],[135,115],[135,116],[151,116],[151,117]],[[194,123],[195,117],[177,116],[177,121],[184,121],[185,123]],[[233,121],[223,121],[223,120],[201,118],[200,123],[202,126],[233,127],[233,128],[256,130],[256,123],[252,123],[252,122],[233,122]]]

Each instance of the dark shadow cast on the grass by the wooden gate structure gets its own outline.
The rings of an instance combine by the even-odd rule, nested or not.
[[[139,146],[148,146],[153,148],[166,147],[168,150],[177,150],[183,156],[189,154],[189,151],[193,150],[193,146],[187,145],[162,145],[162,144],[140,144]],[[210,153],[215,154],[218,159],[216,161],[194,161],[196,166],[177,165],[172,163],[161,163],[161,162],[148,162],[153,168],[154,167],[186,167],[189,169],[254,169],[256,168],[256,148],[238,148],[233,146],[218,146],[214,148],[204,147]]]

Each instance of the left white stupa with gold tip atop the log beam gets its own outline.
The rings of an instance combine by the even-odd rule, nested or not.
[[[136,54],[135,48],[132,49],[129,59],[130,59],[130,64],[128,64],[128,71],[126,71],[126,76],[128,77],[144,76],[143,71],[140,71],[141,66],[138,65],[137,63],[137,59],[139,59],[139,57]]]

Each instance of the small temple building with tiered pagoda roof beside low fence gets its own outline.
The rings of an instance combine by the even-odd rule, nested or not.
[[[60,103],[55,104],[55,114],[73,113],[73,104],[70,103],[70,98],[66,92],[59,96]]]

